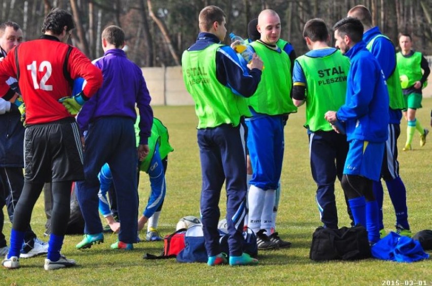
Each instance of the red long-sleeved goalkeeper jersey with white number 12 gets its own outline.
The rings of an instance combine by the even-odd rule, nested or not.
[[[41,124],[70,117],[58,102],[71,96],[72,81],[84,77],[84,94],[91,97],[102,85],[102,73],[77,48],[61,43],[57,37],[43,35],[12,49],[0,63],[0,95],[9,91],[6,80],[18,79],[26,108],[26,123]]]

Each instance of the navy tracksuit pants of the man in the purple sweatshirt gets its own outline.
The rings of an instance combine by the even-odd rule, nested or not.
[[[138,192],[136,183],[136,143],[134,120],[110,116],[96,119],[85,140],[85,180],[77,182],[77,197],[85,220],[84,233],[102,232],[98,213],[99,180],[97,175],[105,163],[110,165],[116,188],[119,219],[122,227],[119,240],[136,241]]]

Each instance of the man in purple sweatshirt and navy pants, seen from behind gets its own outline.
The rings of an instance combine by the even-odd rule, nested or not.
[[[103,85],[78,115],[81,135],[87,131],[85,139],[82,137],[85,140],[86,179],[77,182],[77,197],[86,225],[84,238],[76,248],[90,248],[93,243],[103,242],[98,213],[97,175],[102,166],[108,163],[123,226],[118,241],[111,248],[132,250],[132,243],[136,242],[138,213],[136,162],[138,157],[143,160],[149,153],[148,138],[153,110],[141,69],[122,50],[125,45],[123,30],[118,26],[108,26],[102,31],[101,37],[105,53],[94,64],[102,70]],[[135,103],[140,115],[138,157],[133,127],[136,121]]]

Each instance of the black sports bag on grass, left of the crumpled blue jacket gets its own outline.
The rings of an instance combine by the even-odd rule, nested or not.
[[[309,258],[314,261],[358,260],[371,257],[368,232],[361,225],[340,229],[318,227],[313,233]]]

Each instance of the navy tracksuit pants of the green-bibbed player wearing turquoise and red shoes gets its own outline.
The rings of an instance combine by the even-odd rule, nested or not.
[[[230,256],[241,256],[246,214],[246,159],[239,126],[221,125],[198,130],[202,191],[201,218],[208,256],[221,253],[218,222],[219,200],[226,181],[227,225]]]

